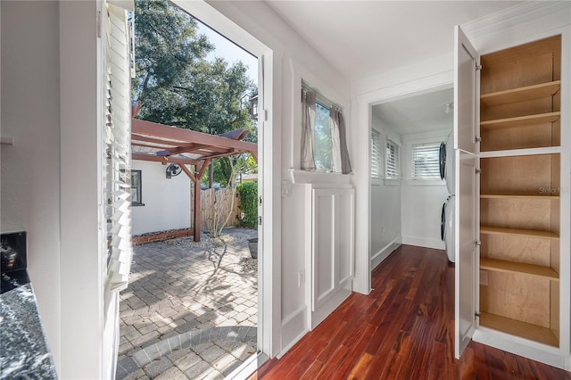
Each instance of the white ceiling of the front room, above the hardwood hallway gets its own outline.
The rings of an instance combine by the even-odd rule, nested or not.
[[[453,27],[521,1],[267,3],[349,81],[452,52]]]

